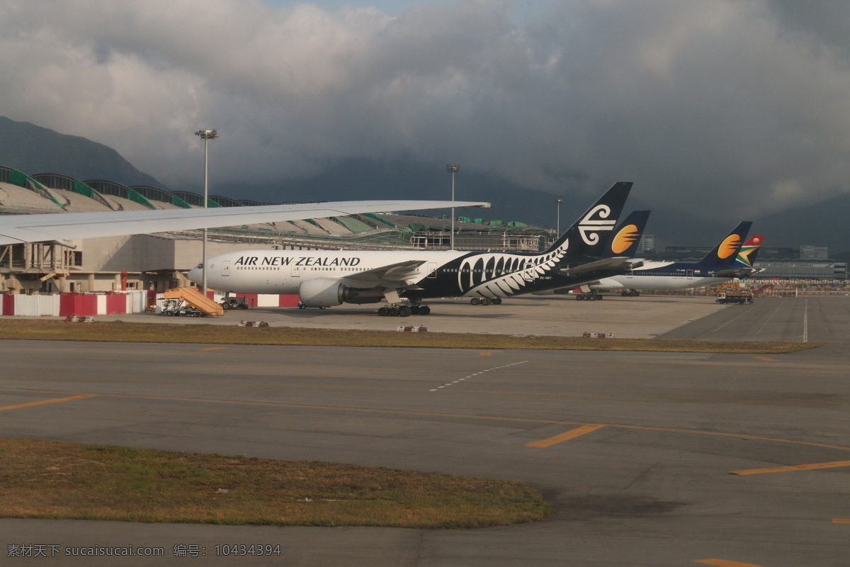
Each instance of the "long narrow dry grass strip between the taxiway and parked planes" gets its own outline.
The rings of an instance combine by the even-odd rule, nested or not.
[[[336,347],[432,349],[629,350],[654,352],[781,354],[823,343],[666,341],[642,338],[583,338],[482,335],[450,332],[392,332],[239,327],[210,324],[162,325],[125,321],[65,323],[61,320],[0,320],[0,339],[106,341],[124,343],[278,344]]]

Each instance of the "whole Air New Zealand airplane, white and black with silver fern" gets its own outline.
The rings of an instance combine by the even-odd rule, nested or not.
[[[297,294],[305,307],[380,303],[378,315],[428,315],[433,298],[502,298],[622,273],[625,255],[598,258],[612,241],[631,182],[611,186],[544,252],[228,252],[207,260],[207,285],[226,293]],[[616,239],[615,239],[616,240]],[[189,272],[199,281],[204,266]],[[409,304],[402,303],[405,300]]]

